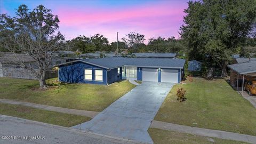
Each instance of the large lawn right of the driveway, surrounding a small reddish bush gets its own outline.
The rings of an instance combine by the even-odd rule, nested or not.
[[[185,102],[178,102],[175,85],[155,120],[256,135],[256,109],[233,90],[224,79],[193,78],[183,85]]]

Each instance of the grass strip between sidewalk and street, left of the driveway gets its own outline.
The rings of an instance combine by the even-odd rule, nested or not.
[[[0,114],[66,127],[81,124],[83,122],[90,121],[91,119],[84,116],[69,115],[57,113],[54,111],[35,109],[20,105],[10,105],[5,103],[0,103]]]

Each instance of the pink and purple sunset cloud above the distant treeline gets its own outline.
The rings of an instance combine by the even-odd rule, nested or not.
[[[120,33],[119,37],[135,31],[144,34],[147,39],[157,36],[178,38],[186,6],[186,3],[178,5],[161,1],[156,5],[138,5],[118,10],[59,7],[56,12],[60,19],[60,30],[68,36],[67,39],[100,33],[113,42],[116,41],[116,31]]]

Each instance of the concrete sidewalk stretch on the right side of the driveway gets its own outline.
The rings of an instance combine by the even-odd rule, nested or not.
[[[172,123],[166,123],[166,122],[160,122],[160,121],[153,121],[150,127],[153,127],[156,129],[162,129],[162,130],[201,135],[203,137],[214,137],[219,139],[228,139],[228,140],[244,141],[248,143],[256,143],[255,136],[233,133],[233,132],[202,129],[198,127],[178,125],[178,124],[172,124]]]

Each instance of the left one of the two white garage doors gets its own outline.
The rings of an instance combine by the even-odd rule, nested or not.
[[[142,81],[158,82],[158,69],[142,68]]]

